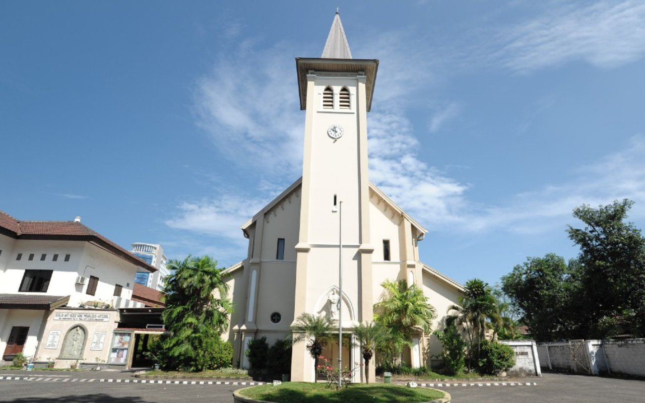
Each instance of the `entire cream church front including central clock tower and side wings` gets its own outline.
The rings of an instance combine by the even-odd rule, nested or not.
[[[248,368],[250,340],[284,339],[302,313],[340,320],[352,340],[355,324],[373,320],[384,280],[421,288],[437,311],[435,328],[463,293],[461,284],[419,259],[426,228],[369,180],[367,112],[378,66],[378,60],[352,59],[339,14],[322,57],[296,59],[306,111],[303,176],[241,226],[248,255],[226,270],[235,312],[224,337],[242,368]],[[436,364],[432,356],[442,348],[435,337],[419,330],[411,341],[408,364]],[[305,345],[293,346],[292,380],[314,380]],[[337,344],[323,355],[335,362]],[[344,343],[343,366],[361,360],[359,347]],[[355,371],[354,382],[373,380],[370,367],[372,374]]]

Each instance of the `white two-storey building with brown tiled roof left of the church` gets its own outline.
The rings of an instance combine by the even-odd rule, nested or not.
[[[103,235],[74,221],[19,221],[0,211],[0,351],[5,359],[17,353],[33,356],[43,341],[45,327],[66,340],[72,325],[75,339],[84,335],[83,346],[73,347],[77,358],[90,350],[87,338],[98,323],[115,328],[115,308],[143,306],[132,301],[137,270],[156,271]],[[68,308],[83,308],[70,319]],[[64,308],[68,307],[68,308]],[[104,310],[101,310],[104,308]],[[83,312],[99,311],[99,313]],[[99,316],[96,316],[99,315]],[[107,315],[107,316],[106,316]],[[57,327],[58,326],[58,327]],[[58,329],[58,330],[57,330]],[[103,335],[105,336],[105,334]],[[48,337],[45,336],[45,339]],[[58,346],[54,358],[71,360],[70,351]],[[63,343],[64,344],[64,343]],[[93,355],[99,354],[94,350]],[[107,359],[107,352],[104,352]],[[98,356],[97,356],[98,357]],[[69,364],[67,364],[69,366]]]

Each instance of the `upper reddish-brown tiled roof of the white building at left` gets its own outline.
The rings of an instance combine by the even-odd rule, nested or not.
[[[20,221],[0,210],[0,233],[14,239],[90,242],[135,266],[148,271],[157,268],[139,259],[80,221]]]

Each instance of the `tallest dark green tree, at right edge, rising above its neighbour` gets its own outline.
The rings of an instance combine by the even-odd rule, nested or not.
[[[569,226],[571,241],[580,246],[577,298],[593,301],[579,308],[579,332],[587,338],[608,337],[620,328],[643,335],[645,330],[645,238],[625,222],[633,201],[627,199],[591,208],[580,206],[573,215],[584,228]]]

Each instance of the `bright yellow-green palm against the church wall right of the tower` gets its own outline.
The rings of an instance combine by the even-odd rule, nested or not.
[[[404,345],[410,346],[415,328],[429,332],[437,313],[415,284],[408,287],[406,280],[386,280],[381,286],[384,290],[381,300],[374,305],[374,316],[387,329],[388,340],[384,344],[393,365],[394,356],[401,355]]]

